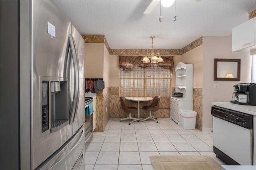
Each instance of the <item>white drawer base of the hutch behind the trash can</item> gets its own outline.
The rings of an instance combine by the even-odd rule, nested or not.
[[[181,126],[180,111],[193,110],[193,100],[183,97],[170,97],[170,118]]]

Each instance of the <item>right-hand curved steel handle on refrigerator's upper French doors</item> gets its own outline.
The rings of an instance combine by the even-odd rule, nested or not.
[[[72,40],[73,40],[73,45],[74,45],[74,49],[75,49],[75,60],[76,60],[76,64],[74,63],[74,68],[76,67],[76,75],[75,75],[75,77],[76,77],[76,79],[75,79],[75,82],[76,82],[76,84],[75,85],[77,85],[77,93],[75,93],[75,111],[74,111],[74,118],[73,118],[73,123],[74,123],[74,121],[75,121],[75,118],[76,118],[76,112],[77,112],[77,108],[78,108],[78,102],[79,102],[79,93],[80,93],[80,68],[79,68],[79,59],[78,59],[78,53],[77,53],[77,49],[76,49],[76,42],[75,42],[75,39],[74,39],[74,37],[72,36]]]

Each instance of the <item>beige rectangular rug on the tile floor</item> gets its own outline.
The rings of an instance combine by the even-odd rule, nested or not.
[[[210,156],[149,156],[154,170],[220,170]]]

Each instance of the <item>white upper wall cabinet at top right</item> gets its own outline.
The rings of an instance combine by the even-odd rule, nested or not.
[[[232,29],[232,51],[256,50],[256,18]]]

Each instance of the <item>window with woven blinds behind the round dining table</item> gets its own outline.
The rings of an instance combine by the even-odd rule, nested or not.
[[[120,89],[119,95],[122,97],[170,97],[172,93],[172,74],[170,66],[153,65],[150,67],[130,67],[124,71],[119,69]]]

